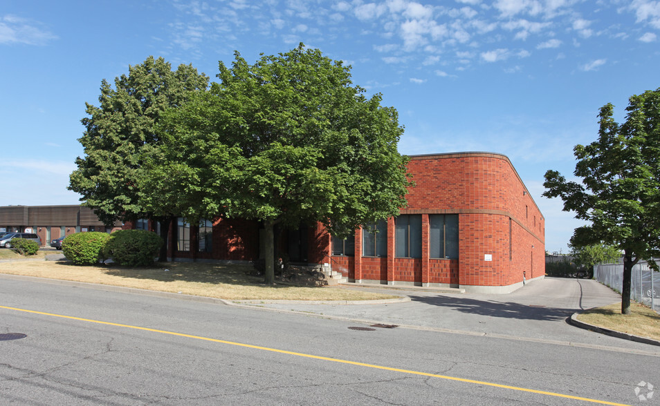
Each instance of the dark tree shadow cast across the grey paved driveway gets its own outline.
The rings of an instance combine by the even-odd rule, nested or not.
[[[555,307],[534,307],[520,305],[514,302],[493,302],[490,300],[475,300],[456,297],[425,297],[410,296],[413,302],[422,302],[427,305],[447,307],[468,314],[481,316],[512,318],[518,320],[566,320],[575,312],[574,309],[559,309]]]

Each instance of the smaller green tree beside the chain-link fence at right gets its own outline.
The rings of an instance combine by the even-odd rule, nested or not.
[[[623,251],[621,313],[630,313],[632,267],[660,255],[660,88],[629,99],[625,122],[612,117],[614,106],[601,107],[598,140],[576,145],[574,174],[569,182],[547,171],[545,197],[561,197],[564,211],[590,224],[578,227],[571,245],[613,245]]]

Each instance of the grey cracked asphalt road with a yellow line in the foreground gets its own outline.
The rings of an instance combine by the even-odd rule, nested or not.
[[[449,308],[433,304],[447,296],[420,297],[401,305]],[[496,331],[507,320],[476,316],[491,317]],[[636,394],[638,384],[660,383],[658,347],[588,331],[583,345],[553,342],[557,320],[538,318],[528,321],[548,323],[542,338],[540,325],[522,339],[469,325],[365,331],[318,313],[0,276],[0,334],[26,335],[0,341],[0,404],[640,404],[648,387]]]

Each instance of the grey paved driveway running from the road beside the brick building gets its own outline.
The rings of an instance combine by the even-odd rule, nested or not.
[[[259,302],[254,305],[386,325],[455,331],[460,334],[561,342],[565,345],[649,349],[648,345],[578,329],[566,322],[576,311],[621,301],[618,293],[595,280],[545,278],[529,282],[506,295],[374,289],[352,284],[344,289],[381,291],[406,296],[410,301],[373,305],[291,302]]]

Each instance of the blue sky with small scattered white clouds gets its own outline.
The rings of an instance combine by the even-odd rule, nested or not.
[[[546,249],[580,225],[541,196],[571,177],[598,108],[623,121],[660,87],[660,1],[15,1],[0,7],[0,206],[77,204],[66,191],[85,102],[149,55],[214,79],[299,42],[353,66],[405,126],[401,153],[507,155],[546,218]]]

